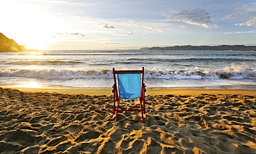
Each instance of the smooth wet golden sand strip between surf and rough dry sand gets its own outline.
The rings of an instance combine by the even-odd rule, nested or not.
[[[62,93],[71,95],[113,95],[111,89],[74,89],[74,88],[21,88],[0,86],[1,88],[16,89],[29,93]],[[145,95],[256,95],[256,90],[244,89],[214,89],[214,88],[174,88],[174,89],[147,89]]]

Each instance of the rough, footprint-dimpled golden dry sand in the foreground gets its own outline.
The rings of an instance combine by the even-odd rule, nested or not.
[[[111,95],[0,88],[0,153],[256,153],[256,95],[205,92],[148,94],[143,124]]]

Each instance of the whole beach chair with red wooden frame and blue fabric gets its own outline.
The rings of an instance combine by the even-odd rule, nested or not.
[[[122,111],[139,111],[141,113],[140,120],[127,119],[132,122],[145,122],[143,114],[145,114],[145,91],[146,86],[143,82],[144,67],[142,70],[115,70],[113,68],[113,113],[115,120],[118,120],[118,113]],[[120,106],[120,101],[125,99],[139,99],[140,104],[136,106]],[[129,104],[130,105],[130,104]]]

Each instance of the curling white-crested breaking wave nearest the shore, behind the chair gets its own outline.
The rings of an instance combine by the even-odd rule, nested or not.
[[[55,70],[7,69],[0,77],[27,77],[39,79],[95,79],[113,78],[112,70]],[[232,64],[224,68],[185,68],[179,70],[154,68],[145,70],[145,79],[256,79],[256,68]]]

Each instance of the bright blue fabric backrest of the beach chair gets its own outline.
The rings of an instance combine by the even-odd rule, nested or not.
[[[141,93],[140,72],[118,74],[118,93],[122,99],[136,99]]]

